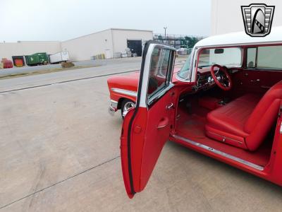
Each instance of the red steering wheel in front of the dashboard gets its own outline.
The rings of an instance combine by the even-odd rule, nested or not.
[[[217,68],[217,69],[216,69]],[[231,76],[227,71],[226,66],[220,66],[218,64],[214,64],[211,67],[212,78],[219,88],[222,90],[231,90],[232,81]]]

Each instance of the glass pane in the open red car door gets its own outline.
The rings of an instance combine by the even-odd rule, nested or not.
[[[149,70],[149,84],[147,97],[151,98],[160,90],[168,86],[168,67],[170,62],[171,50],[155,47]]]

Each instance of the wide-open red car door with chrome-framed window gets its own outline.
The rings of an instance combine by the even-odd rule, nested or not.
[[[125,115],[121,131],[123,180],[130,198],[145,188],[173,129],[175,57],[172,47],[153,41],[145,44],[136,106]]]

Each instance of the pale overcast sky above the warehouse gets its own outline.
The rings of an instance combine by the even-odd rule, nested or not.
[[[0,42],[69,40],[107,28],[210,34],[211,0],[1,0]]]

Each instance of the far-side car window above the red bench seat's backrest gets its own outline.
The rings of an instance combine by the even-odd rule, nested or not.
[[[247,68],[282,70],[282,46],[248,48]]]

